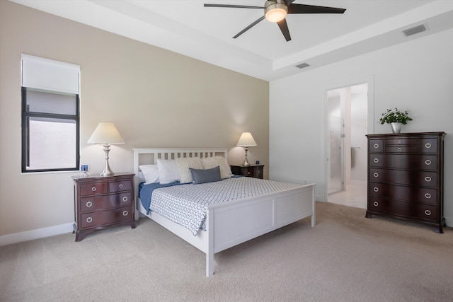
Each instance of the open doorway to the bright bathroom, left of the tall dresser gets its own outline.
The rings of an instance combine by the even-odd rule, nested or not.
[[[368,83],[326,96],[328,202],[366,209]]]

